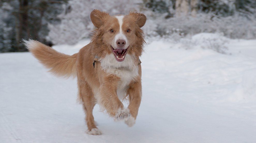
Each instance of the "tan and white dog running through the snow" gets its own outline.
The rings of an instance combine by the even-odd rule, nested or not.
[[[141,27],[146,16],[130,12],[110,16],[93,10],[95,26],[91,42],[74,55],[57,52],[35,40],[24,41],[27,49],[56,76],[77,76],[78,99],[86,117],[89,135],[101,135],[96,127],[93,108],[96,103],[129,127],[135,123],[141,103],[141,65],[139,57],[145,46]],[[128,100],[124,107],[122,100]]]

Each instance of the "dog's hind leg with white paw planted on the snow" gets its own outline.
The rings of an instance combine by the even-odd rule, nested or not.
[[[85,120],[87,123],[88,130],[86,131],[89,135],[101,135],[101,131],[96,127],[93,117],[93,107],[96,104],[91,87],[85,81],[78,81],[79,87],[79,98],[82,100],[83,108],[86,114]]]

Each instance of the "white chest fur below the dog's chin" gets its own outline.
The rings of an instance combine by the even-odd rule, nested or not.
[[[117,96],[123,100],[127,94],[130,82],[138,76],[138,65],[134,63],[134,58],[127,54],[122,62],[116,61],[113,54],[107,55],[100,60],[101,68],[109,74],[114,74],[121,78],[117,87]]]

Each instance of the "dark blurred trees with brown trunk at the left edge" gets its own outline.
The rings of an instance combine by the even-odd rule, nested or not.
[[[32,38],[46,43],[47,24],[60,22],[56,18],[67,0],[1,0],[0,50],[26,51],[22,39]]]

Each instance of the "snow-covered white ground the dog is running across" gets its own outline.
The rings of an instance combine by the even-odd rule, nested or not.
[[[2,53],[0,142],[256,142],[256,40],[226,39],[230,54],[202,49],[200,37],[214,36],[149,42],[136,124],[96,105],[101,136],[85,133],[76,79],[54,77],[28,52]],[[54,48],[73,54],[88,42]]]

